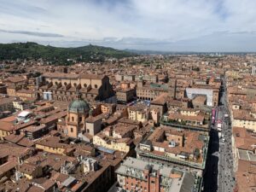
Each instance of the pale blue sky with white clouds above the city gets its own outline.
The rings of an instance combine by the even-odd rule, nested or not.
[[[256,51],[256,0],[0,0],[0,43]]]

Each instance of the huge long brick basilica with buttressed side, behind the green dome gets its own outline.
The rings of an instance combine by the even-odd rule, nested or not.
[[[45,100],[73,101],[79,90],[88,101],[104,101],[114,96],[113,87],[105,75],[44,73],[38,95]]]

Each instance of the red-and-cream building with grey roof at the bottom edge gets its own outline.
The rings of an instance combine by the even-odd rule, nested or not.
[[[160,166],[143,160],[127,158],[116,170],[119,191],[182,192],[198,191],[195,177],[189,172],[180,172],[168,166]],[[189,183],[186,183],[189,180]],[[179,181],[179,182],[177,182]]]

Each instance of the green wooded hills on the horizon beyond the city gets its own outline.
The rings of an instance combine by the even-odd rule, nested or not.
[[[0,44],[0,61],[16,59],[39,59],[52,64],[69,64],[75,61],[104,61],[106,58],[124,58],[134,53],[96,45],[77,48],[44,46],[32,42]]]

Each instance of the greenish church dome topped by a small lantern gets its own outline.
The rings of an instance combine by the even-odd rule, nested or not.
[[[71,102],[68,106],[68,112],[73,113],[88,113],[90,111],[90,106],[87,102],[81,99],[80,95],[76,96],[76,99]]]

